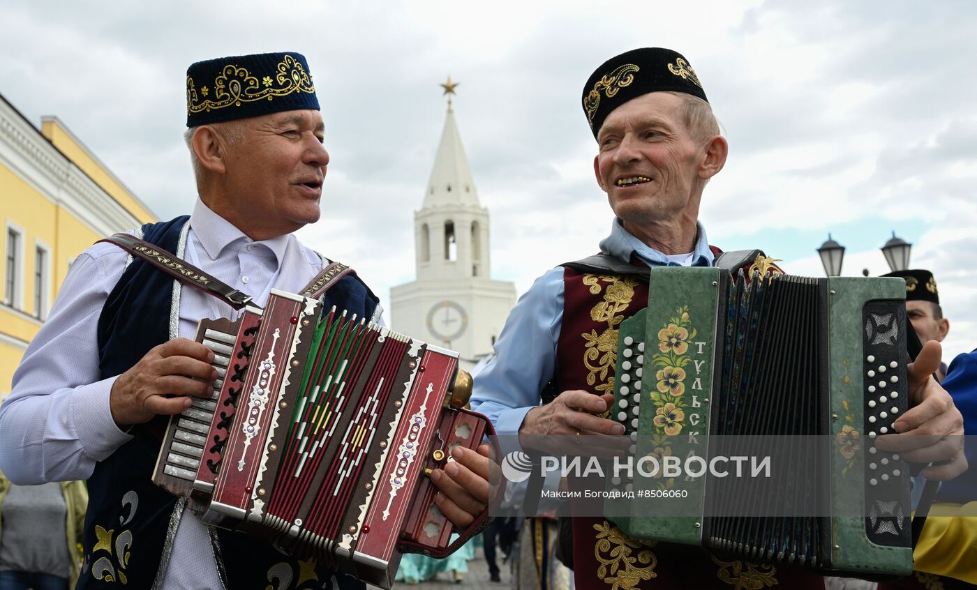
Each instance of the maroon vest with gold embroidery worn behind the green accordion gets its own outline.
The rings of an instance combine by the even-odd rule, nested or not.
[[[647,305],[648,284],[636,276],[565,269],[551,391],[614,393],[617,328]],[[726,562],[697,547],[633,539],[603,518],[573,519],[573,573],[577,590],[824,589],[824,578],[803,569]]]

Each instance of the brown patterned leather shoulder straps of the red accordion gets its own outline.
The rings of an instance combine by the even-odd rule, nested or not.
[[[235,310],[240,310],[251,303],[250,295],[246,295],[228,283],[204,273],[186,260],[178,258],[172,252],[150,244],[135,235],[113,233],[99,241],[115,244],[133,256],[142,258],[163,273],[220,299]],[[319,299],[322,293],[339,282],[340,278],[353,272],[353,269],[344,264],[331,262],[312,279],[312,282],[300,294],[312,299]]]

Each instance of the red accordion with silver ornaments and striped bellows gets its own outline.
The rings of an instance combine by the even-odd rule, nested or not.
[[[492,434],[455,353],[276,290],[196,339],[221,377],[171,418],[153,481],[205,523],[383,588],[401,553],[444,557],[476,532],[449,544],[427,478]]]

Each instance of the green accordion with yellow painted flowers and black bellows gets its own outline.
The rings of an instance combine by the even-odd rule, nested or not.
[[[648,308],[618,333],[612,417],[631,457],[786,460],[777,485],[635,471],[608,480],[608,497],[636,499],[606,513],[632,537],[731,559],[909,574],[909,469],[873,445],[908,409],[905,296],[900,278],[652,269]]]

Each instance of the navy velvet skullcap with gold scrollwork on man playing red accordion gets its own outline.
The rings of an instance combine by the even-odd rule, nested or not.
[[[319,110],[302,54],[255,54],[193,63],[187,69],[187,126],[258,115]]]

